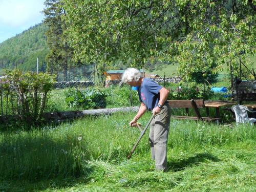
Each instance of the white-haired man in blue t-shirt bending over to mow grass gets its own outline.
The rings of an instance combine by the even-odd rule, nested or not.
[[[130,126],[137,126],[137,120],[145,113],[146,110],[152,111],[155,115],[151,122],[150,129],[150,146],[152,159],[156,161],[156,170],[167,169],[167,139],[170,124],[170,107],[166,101],[168,90],[159,86],[150,78],[142,77],[139,70],[128,68],[122,75],[121,83],[130,84],[136,87],[141,102],[140,109]],[[120,84],[121,84],[120,83]]]

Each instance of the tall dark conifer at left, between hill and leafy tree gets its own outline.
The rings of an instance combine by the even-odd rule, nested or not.
[[[70,48],[65,35],[66,24],[62,21],[65,16],[65,10],[59,0],[46,0],[46,16],[44,23],[47,24],[46,32],[47,42],[50,53],[47,55],[47,69],[51,73],[57,72],[59,69],[64,71],[64,79],[67,80],[68,61],[72,58],[73,50]]]

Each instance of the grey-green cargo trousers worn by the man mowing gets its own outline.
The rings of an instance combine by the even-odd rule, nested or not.
[[[165,103],[155,115],[150,127],[151,157],[156,162],[156,170],[167,170],[167,140],[170,125],[170,107]]]

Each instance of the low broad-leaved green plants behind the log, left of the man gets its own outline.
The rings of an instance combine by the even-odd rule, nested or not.
[[[70,88],[65,91],[68,105],[82,106],[84,110],[105,108],[106,107],[106,92],[95,88],[86,88],[84,90],[78,90]]]

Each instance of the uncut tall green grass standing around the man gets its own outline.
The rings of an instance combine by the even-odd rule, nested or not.
[[[126,159],[140,132],[129,127],[134,113],[115,114],[46,126],[30,132],[0,135],[0,173],[5,179],[50,179],[79,177],[92,170],[88,161],[120,163]],[[150,114],[140,122],[146,124]],[[169,131],[170,151],[200,149],[206,146],[236,145],[254,142],[255,129],[250,125],[230,126],[172,120]],[[149,154],[147,136],[135,155]]]

